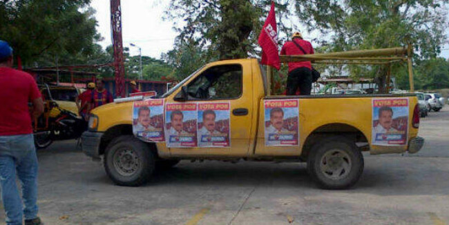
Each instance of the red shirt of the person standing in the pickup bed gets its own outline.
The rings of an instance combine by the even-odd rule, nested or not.
[[[309,41],[305,41],[303,39],[294,39],[296,43],[301,46],[305,50],[305,53],[308,54],[314,54],[314,47],[312,47],[312,43]],[[283,48],[280,50],[280,55],[305,55],[298,46],[296,46],[293,41],[287,41],[285,42]],[[296,68],[300,67],[307,67],[309,69],[312,69],[312,63],[310,61],[298,61],[298,62],[289,62],[289,72]]]

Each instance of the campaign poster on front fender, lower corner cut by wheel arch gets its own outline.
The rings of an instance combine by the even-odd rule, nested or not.
[[[143,141],[164,141],[164,99],[134,102],[133,134]]]

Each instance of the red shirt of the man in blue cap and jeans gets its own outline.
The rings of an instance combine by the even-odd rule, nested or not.
[[[41,97],[26,72],[0,67],[0,136],[32,134],[28,102]]]

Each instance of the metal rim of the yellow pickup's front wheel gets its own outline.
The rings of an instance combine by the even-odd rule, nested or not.
[[[117,173],[122,176],[134,175],[142,165],[135,151],[129,148],[117,150],[113,157],[113,164]]]

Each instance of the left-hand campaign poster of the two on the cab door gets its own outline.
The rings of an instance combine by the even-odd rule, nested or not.
[[[196,147],[196,118],[196,103],[166,104],[166,146],[169,148]]]

